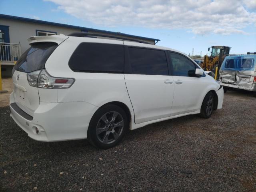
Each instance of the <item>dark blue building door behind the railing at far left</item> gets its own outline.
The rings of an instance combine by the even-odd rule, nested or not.
[[[0,60],[8,61],[11,58],[9,26],[0,25]]]

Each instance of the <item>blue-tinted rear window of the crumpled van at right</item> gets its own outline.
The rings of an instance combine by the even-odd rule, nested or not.
[[[252,57],[226,57],[222,63],[222,70],[254,70],[255,58]]]

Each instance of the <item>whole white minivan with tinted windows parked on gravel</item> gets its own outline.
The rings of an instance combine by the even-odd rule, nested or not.
[[[87,138],[106,149],[128,129],[222,108],[222,86],[185,54],[93,36],[28,39],[12,71],[10,115],[34,140]]]

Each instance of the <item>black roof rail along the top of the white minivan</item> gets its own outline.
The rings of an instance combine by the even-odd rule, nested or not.
[[[108,38],[115,38],[115,39],[121,39],[121,40],[128,40],[128,41],[135,41],[135,42],[139,42],[139,43],[151,44],[149,42],[134,39],[134,38],[125,38],[125,37],[118,37],[118,36],[115,36],[115,35],[102,35],[102,34],[86,33],[86,32],[74,32],[74,33],[70,33],[68,36],[72,36],[72,37],[99,36],[99,37],[108,37]]]

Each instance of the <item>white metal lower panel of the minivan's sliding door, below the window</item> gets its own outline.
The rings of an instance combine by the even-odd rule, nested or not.
[[[172,76],[124,74],[124,77],[136,124],[171,116]]]

